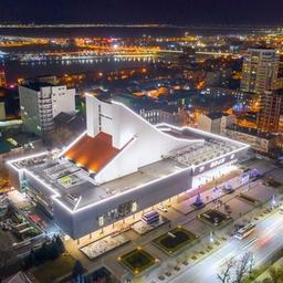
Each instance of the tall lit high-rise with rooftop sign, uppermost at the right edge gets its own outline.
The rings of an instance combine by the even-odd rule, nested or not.
[[[249,49],[243,59],[241,90],[258,95],[276,87],[280,56],[272,49]]]

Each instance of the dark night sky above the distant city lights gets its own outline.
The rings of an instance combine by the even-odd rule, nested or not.
[[[279,24],[283,0],[0,0],[0,22]]]

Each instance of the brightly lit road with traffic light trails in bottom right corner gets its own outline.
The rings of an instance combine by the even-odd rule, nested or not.
[[[283,245],[283,214],[275,212],[256,224],[256,231],[245,240],[231,238],[229,242],[200,261],[190,266],[170,282],[174,283],[217,283],[217,273],[221,266],[231,258],[239,256],[245,252],[254,254],[254,265],[263,264],[275,251]]]

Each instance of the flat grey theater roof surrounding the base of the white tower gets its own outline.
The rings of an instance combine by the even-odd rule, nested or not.
[[[168,125],[166,127],[167,134],[170,134],[169,132],[171,130],[171,134],[176,135],[176,128],[168,128]],[[13,166],[15,166],[18,169],[29,169],[29,171],[57,191],[61,196],[60,200],[67,208],[74,210],[98,202],[99,200],[109,198],[114,195],[122,193],[128,189],[142,186],[155,179],[159,179],[160,177],[168,176],[178,170],[188,168],[192,164],[198,165],[198,163],[203,161],[203,157],[208,156],[208,150],[210,150],[211,154],[216,151],[213,147],[214,143],[220,149],[222,148],[223,154],[224,150],[229,153],[234,149],[240,149],[241,147],[244,148],[244,145],[233,140],[226,138],[223,139],[221,137],[218,138],[209,134],[202,135],[202,133],[196,133],[193,130],[177,130],[177,134],[180,134],[182,138],[186,138],[187,136],[192,140],[193,137],[195,139],[203,139],[205,143],[191,143],[191,145],[186,148],[180,148],[174,153],[168,153],[168,156],[166,156],[163,160],[140,167],[138,171],[134,174],[102,184],[99,186],[95,185],[94,179],[91,178],[90,174],[83,168],[77,167],[75,164],[64,158],[53,159],[51,156],[49,156],[49,154],[24,159],[18,163],[14,161]],[[193,146],[196,146],[196,149]],[[208,156],[208,158],[210,157]],[[61,171],[62,176],[60,175]],[[77,184],[72,184],[69,187],[63,186],[62,182],[59,181],[60,178],[63,177],[64,179],[64,177],[66,177],[67,179],[70,176],[73,176],[74,180],[80,181]]]

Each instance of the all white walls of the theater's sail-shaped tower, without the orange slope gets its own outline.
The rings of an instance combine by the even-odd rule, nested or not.
[[[113,147],[122,149],[126,146],[95,176],[97,184],[137,171],[139,167],[156,163],[169,151],[190,144],[159,132],[119,103],[101,102],[94,96],[86,96],[86,99],[88,135],[104,132],[112,136]],[[135,145],[128,151],[127,146],[133,139]]]

